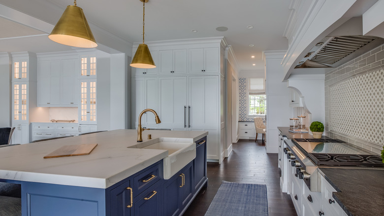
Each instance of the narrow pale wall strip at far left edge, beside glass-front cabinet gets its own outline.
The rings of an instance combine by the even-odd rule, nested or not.
[[[0,127],[11,125],[11,64],[8,53],[0,54]]]

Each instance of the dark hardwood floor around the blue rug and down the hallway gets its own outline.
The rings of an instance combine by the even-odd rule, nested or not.
[[[184,216],[204,216],[223,180],[267,185],[268,215],[297,216],[292,200],[280,189],[278,155],[267,154],[261,141],[239,140],[222,164],[207,163],[208,187],[196,196]]]

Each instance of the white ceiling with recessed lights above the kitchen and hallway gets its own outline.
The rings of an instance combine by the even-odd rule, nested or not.
[[[73,0],[0,0],[0,3],[53,26]],[[145,4],[145,40],[224,36],[235,53],[239,72],[263,71],[262,51],[288,49],[288,39],[283,34],[290,14],[289,4],[290,0],[149,0]],[[139,0],[78,0],[77,6],[83,8],[91,30],[103,29],[129,44],[142,40],[143,7]],[[221,26],[228,30],[216,31]],[[0,22],[0,28],[0,52],[71,50],[50,41],[49,32],[7,20]],[[93,32],[97,42],[100,35]]]

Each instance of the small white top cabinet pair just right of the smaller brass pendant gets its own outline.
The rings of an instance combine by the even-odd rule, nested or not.
[[[187,73],[187,49],[160,50],[160,74]]]

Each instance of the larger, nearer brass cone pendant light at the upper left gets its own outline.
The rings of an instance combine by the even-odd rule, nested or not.
[[[68,46],[93,48],[97,46],[94,35],[85,19],[83,9],[68,5],[53,28],[49,39]]]

